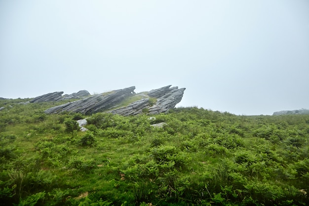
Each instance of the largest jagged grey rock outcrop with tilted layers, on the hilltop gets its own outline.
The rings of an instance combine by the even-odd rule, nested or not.
[[[136,94],[135,86],[114,90],[109,94],[96,94],[74,102],[69,102],[45,110],[46,114],[57,114],[61,112],[78,112],[81,114],[93,114],[97,112],[109,112],[122,116],[137,115],[142,113],[159,114],[167,112],[175,107],[183,97],[186,88],[171,87],[171,85],[154,89],[146,93]],[[140,98],[127,106],[119,107],[119,103],[128,98],[136,96]],[[154,105],[150,105],[150,99],[156,99]]]

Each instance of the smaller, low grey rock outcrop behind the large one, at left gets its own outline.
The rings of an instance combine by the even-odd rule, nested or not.
[[[48,94],[43,94],[41,96],[32,99],[30,103],[62,101],[66,99],[80,99],[90,95],[90,93],[87,90],[80,90],[77,93],[65,94],[63,96],[62,94],[63,91],[56,91]]]

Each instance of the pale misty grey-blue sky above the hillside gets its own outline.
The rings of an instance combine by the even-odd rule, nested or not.
[[[309,109],[309,0],[0,0],[0,97],[169,84],[177,106]]]

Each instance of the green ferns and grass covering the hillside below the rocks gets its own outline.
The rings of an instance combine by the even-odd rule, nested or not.
[[[81,132],[21,101],[0,100],[0,205],[309,205],[309,115],[98,113]]]

